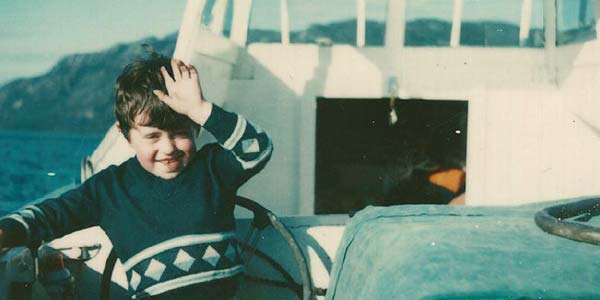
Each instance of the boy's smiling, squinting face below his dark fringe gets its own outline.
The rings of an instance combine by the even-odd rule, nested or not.
[[[129,131],[129,144],[142,167],[155,176],[171,179],[188,165],[195,152],[191,128],[166,131],[139,125]]]

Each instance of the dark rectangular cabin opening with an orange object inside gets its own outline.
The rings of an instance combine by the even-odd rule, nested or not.
[[[467,114],[467,101],[317,98],[315,213],[464,193]]]

